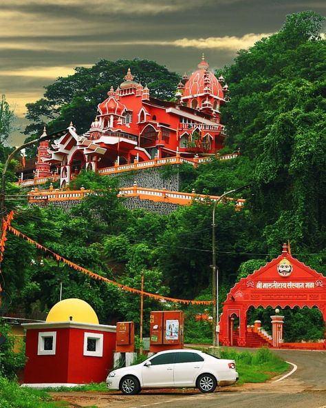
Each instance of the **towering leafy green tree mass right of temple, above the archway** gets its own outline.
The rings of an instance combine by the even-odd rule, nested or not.
[[[226,143],[246,156],[237,174],[250,170],[255,182],[248,203],[265,252],[287,240],[294,250],[325,247],[324,20],[314,12],[288,16],[279,33],[241,50],[224,73],[232,96],[222,112]]]

